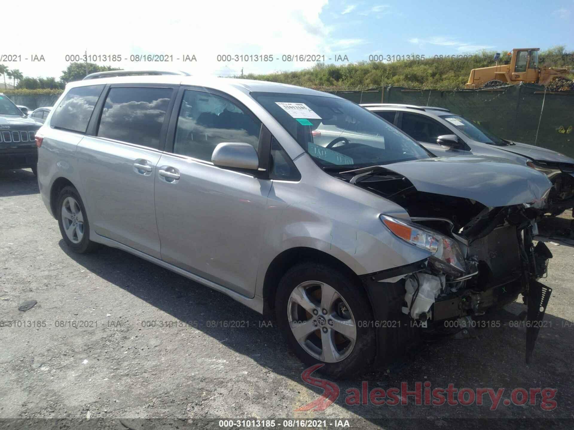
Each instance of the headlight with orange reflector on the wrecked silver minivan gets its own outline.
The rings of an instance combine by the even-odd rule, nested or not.
[[[466,273],[464,256],[456,240],[414,222],[399,220],[385,214],[379,218],[395,236],[430,252],[429,263],[441,272],[457,276]]]

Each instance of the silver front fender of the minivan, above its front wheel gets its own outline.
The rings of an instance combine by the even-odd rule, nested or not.
[[[302,169],[312,163],[308,167],[317,169],[308,155],[296,163],[303,165]],[[300,182],[273,181],[264,216],[266,229],[255,294],[262,294],[269,264],[291,248],[328,253],[357,275],[414,263],[430,255],[394,236],[379,220],[381,213],[409,219],[401,206],[320,170],[311,177],[302,175]]]

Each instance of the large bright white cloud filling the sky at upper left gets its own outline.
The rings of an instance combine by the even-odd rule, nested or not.
[[[333,40],[332,27],[320,13],[327,0],[300,3],[253,0],[249,9],[236,1],[181,2],[164,0],[153,13],[146,6],[129,2],[100,0],[91,3],[60,0],[58,7],[46,8],[45,2],[30,0],[15,3],[14,11],[25,13],[29,22],[49,23],[49,42],[34,37],[2,39],[2,52],[22,55],[22,61],[6,64],[26,76],[55,76],[58,79],[69,61],[68,54],[118,54],[121,62],[97,62],[127,70],[183,70],[192,74],[223,75],[267,73],[301,68],[297,62],[282,62],[282,54],[332,52],[331,46],[350,42]],[[177,13],[173,13],[177,10]],[[65,11],[63,13],[62,11]],[[113,13],[110,13],[113,11]],[[281,17],[278,24],[269,17]],[[2,22],[3,34],[21,34],[18,19]],[[24,61],[42,54],[45,62]],[[169,54],[169,62],[130,62],[131,54]],[[184,54],[195,54],[197,62],[183,62]],[[221,54],[270,54],[273,62],[217,61]],[[279,60],[277,60],[279,58]]]

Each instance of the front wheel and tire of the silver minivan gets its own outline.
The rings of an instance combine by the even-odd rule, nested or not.
[[[350,377],[374,361],[369,299],[358,280],[321,263],[298,264],[276,295],[278,326],[302,362],[324,363],[320,373]]]

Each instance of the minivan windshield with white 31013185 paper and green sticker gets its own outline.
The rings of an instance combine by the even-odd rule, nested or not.
[[[345,169],[429,158],[403,132],[348,100],[253,92],[320,167]]]

